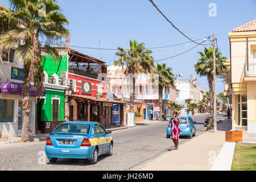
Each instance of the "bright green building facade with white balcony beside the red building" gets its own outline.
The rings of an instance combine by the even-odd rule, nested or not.
[[[51,55],[43,55],[44,87],[46,96],[36,100],[36,127],[40,133],[50,133],[57,125],[66,121],[64,95],[68,78],[68,56],[59,49],[61,58],[57,61]]]

